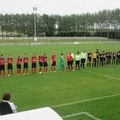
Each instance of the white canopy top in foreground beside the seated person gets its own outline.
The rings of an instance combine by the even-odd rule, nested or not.
[[[0,120],[63,120],[49,107],[0,116]]]

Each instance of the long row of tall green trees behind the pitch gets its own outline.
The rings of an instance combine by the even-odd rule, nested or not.
[[[36,19],[34,19],[36,17]],[[72,15],[0,14],[0,36],[108,37],[120,39],[120,9]]]

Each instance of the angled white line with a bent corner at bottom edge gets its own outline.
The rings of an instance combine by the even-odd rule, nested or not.
[[[79,113],[75,113],[75,114],[65,115],[65,116],[62,116],[62,118],[65,119],[65,118],[71,118],[71,117],[76,117],[76,116],[80,116],[80,115],[86,115],[90,118],[93,118],[94,120],[100,120],[99,118],[91,115],[88,112],[79,112]]]

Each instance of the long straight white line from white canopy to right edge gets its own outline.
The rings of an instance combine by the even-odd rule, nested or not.
[[[78,103],[102,100],[102,99],[112,98],[112,97],[116,97],[116,96],[120,96],[120,93],[114,94],[114,95],[103,96],[103,97],[90,98],[90,99],[86,99],[86,100],[79,100],[79,101],[74,101],[74,102],[70,102],[70,103],[63,103],[63,104],[53,105],[51,107],[52,108],[64,107],[64,106],[68,106],[68,105],[74,105],[74,104],[78,104]]]

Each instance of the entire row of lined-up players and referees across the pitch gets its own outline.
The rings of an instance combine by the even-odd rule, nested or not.
[[[84,69],[85,65],[87,67],[97,67],[97,66],[104,66],[106,64],[120,64],[120,51],[99,52],[98,49],[95,52],[88,52],[88,53],[86,53],[85,51],[81,53],[77,51],[75,55],[72,52],[70,52],[66,58],[67,59],[65,60],[63,53],[60,54],[59,66],[60,66],[61,71],[64,71],[65,69],[65,61],[67,61],[66,70],[72,70],[72,71],[78,70],[80,68]],[[52,61],[51,69],[50,69],[51,72],[56,72],[56,60],[57,60],[56,53],[53,52],[51,55],[51,61]],[[45,53],[43,55],[40,53],[38,58],[35,55],[31,57],[32,73],[36,73],[37,71],[36,70],[37,61],[39,63],[39,68],[38,68],[39,73],[40,74],[42,72],[47,73],[48,72],[48,57],[46,56]],[[74,61],[75,61],[75,67],[74,67]],[[13,75],[13,58],[9,56],[5,61],[3,54],[1,54],[0,56],[0,77],[6,74],[5,62],[7,62],[7,70],[8,70],[7,75],[8,76]],[[17,67],[18,76],[20,76],[21,74],[22,63],[23,63],[23,75],[30,73],[28,71],[29,57],[27,56],[27,54],[25,54],[23,58],[18,56],[18,58],[16,59],[16,67]]]

